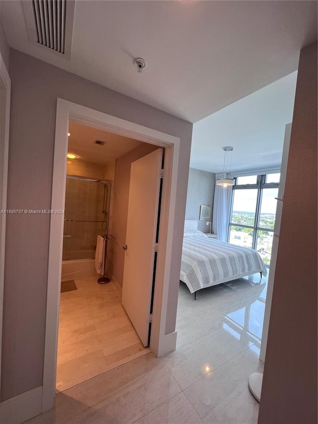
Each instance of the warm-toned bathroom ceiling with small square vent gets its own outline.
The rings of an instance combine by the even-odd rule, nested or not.
[[[77,155],[79,159],[95,164],[107,165],[125,153],[143,144],[121,135],[98,130],[86,125],[70,122],[68,153]],[[103,146],[94,144],[95,140],[103,141]]]

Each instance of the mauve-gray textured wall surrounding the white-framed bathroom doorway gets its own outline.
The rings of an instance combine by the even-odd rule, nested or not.
[[[8,209],[50,209],[57,97],[180,138],[166,332],[175,328],[192,124],[10,50]],[[48,215],[8,215],[1,401],[42,385]]]

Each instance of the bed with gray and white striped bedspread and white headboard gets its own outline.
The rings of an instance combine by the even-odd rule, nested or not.
[[[191,293],[267,269],[260,255],[197,230],[197,221],[185,220],[180,280]]]

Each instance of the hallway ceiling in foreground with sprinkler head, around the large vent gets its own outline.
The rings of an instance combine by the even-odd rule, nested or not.
[[[82,0],[67,60],[29,43],[21,1],[0,6],[10,47],[192,123],[296,71],[317,39],[316,1]]]

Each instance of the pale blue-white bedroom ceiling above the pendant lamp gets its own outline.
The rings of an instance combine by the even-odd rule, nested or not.
[[[294,72],[195,123],[190,167],[222,172],[226,146],[234,147],[228,154],[233,171],[280,165],[285,125],[293,119],[296,79]]]

